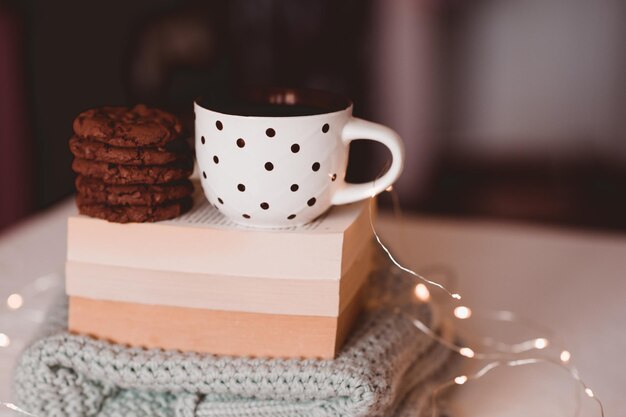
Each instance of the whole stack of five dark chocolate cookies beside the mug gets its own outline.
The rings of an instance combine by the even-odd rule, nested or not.
[[[79,114],[73,129],[81,214],[128,223],[189,210],[193,153],[174,115],[143,105],[102,107]]]

